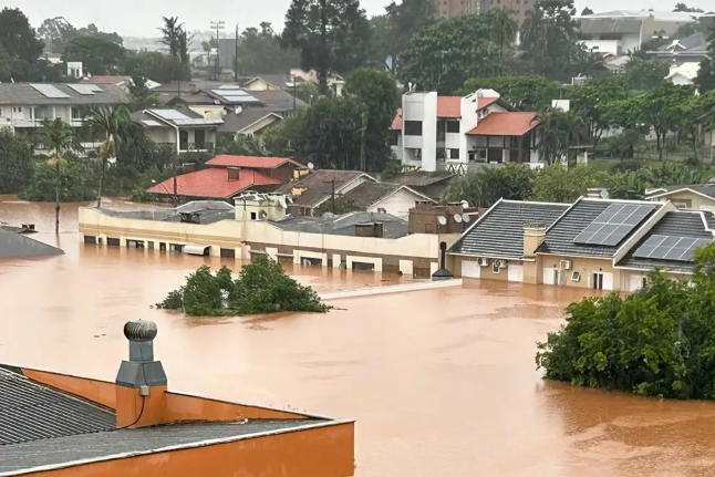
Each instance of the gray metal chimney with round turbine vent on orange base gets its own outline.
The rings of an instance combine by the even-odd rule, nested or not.
[[[129,361],[122,361],[116,375],[116,426],[145,427],[162,423],[166,405],[166,373],[154,361],[156,324],[128,321],[124,335],[129,340]]]

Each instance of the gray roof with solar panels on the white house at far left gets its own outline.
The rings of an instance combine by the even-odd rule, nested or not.
[[[0,83],[0,105],[27,105],[27,106],[41,106],[41,105],[79,105],[91,106],[95,104],[127,104],[131,102],[128,94],[126,94],[120,86],[114,84],[102,84],[101,92],[94,94],[80,94],[66,83],[48,83],[60,90],[69,97],[46,97],[34,89],[30,83]]]

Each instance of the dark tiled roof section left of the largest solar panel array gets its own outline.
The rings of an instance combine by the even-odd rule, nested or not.
[[[568,204],[500,200],[449,248],[452,253],[475,257],[521,258],[524,226],[539,222],[551,226]]]

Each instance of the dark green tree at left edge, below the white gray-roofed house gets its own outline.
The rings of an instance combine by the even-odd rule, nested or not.
[[[32,175],[32,143],[0,128],[0,194],[18,194]]]

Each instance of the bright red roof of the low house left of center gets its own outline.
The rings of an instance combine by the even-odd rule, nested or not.
[[[228,179],[228,169],[208,168],[176,176],[176,189],[184,197],[226,199],[253,186],[279,185],[280,182],[252,169],[240,170],[238,180]],[[174,178],[147,189],[152,194],[174,195]]]

